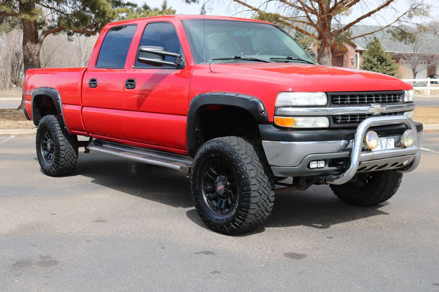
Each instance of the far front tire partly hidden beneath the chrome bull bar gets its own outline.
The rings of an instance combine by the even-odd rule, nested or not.
[[[402,173],[393,170],[373,171],[363,186],[347,182],[342,185],[330,185],[335,196],[343,202],[356,206],[373,206],[390,199],[398,190],[403,178]]]

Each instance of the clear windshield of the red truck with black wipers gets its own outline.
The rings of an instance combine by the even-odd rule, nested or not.
[[[183,24],[196,64],[245,61],[235,56],[316,64],[302,46],[275,25],[212,19],[184,20]]]

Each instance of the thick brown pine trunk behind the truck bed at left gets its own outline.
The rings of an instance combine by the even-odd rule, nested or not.
[[[20,12],[29,13],[32,9],[35,9],[35,3],[32,1],[26,1],[25,3],[19,2],[18,4]],[[40,48],[38,44],[38,27],[35,21],[29,21],[22,19],[23,26],[23,64],[24,72],[27,69],[41,68],[40,64]],[[23,82],[24,86],[24,82]],[[20,110],[24,107],[24,95],[22,98],[22,103],[17,108]]]

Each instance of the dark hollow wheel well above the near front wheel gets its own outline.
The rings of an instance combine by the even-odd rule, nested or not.
[[[252,140],[260,139],[258,122],[248,110],[242,107],[209,105],[198,109],[195,119],[194,141],[191,141],[189,155],[205,142],[226,136],[239,136]],[[192,155],[193,154],[193,155]]]

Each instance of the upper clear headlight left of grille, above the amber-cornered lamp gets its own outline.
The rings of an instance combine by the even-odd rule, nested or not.
[[[281,92],[277,95],[277,107],[325,106],[328,103],[324,92]]]

